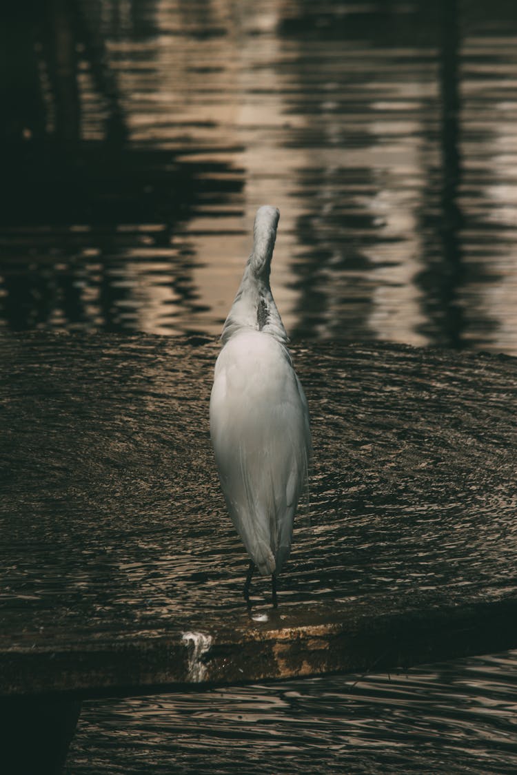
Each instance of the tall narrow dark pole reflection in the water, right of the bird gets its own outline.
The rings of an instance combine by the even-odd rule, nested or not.
[[[460,152],[458,115],[460,95],[458,90],[458,50],[460,33],[457,0],[442,0],[441,47],[439,61],[439,87],[442,101],[442,246],[443,280],[440,297],[443,303],[443,338],[450,347],[461,346],[463,315],[457,304],[457,288],[461,281],[461,251],[458,239],[461,214],[457,205],[457,189],[460,181]]]

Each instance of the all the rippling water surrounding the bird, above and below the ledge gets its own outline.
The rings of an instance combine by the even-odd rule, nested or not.
[[[281,208],[272,283],[318,453],[284,605],[515,594],[512,364],[420,370],[368,349],[517,355],[513,4],[49,0],[9,15],[2,621],[66,637],[240,610],[205,408],[210,340],[265,202]],[[98,701],[68,769],[513,773],[515,667],[512,652],[353,689]]]

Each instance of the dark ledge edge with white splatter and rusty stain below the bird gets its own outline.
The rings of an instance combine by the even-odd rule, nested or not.
[[[271,612],[268,622],[241,618],[170,636],[3,648],[0,697],[188,691],[395,670],[517,647],[517,600],[387,615],[368,608],[333,611],[333,621],[306,622],[305,611],[305,623],[296,623],[299,613]]]

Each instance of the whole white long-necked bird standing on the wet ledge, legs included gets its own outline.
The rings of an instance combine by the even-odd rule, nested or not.
[[[210,398],[210,435],[233,525],[255,567],[272,577],[291,550],[293,519],[312,453],[308,406],[269,282],[280,212],[257,210],[253,250],[222,328]]]

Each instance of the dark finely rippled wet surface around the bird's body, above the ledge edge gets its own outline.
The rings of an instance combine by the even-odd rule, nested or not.
[[[363,663],[374,662],[386,650],[374,623],[396,639],[404,617],[420,633],[429,620],[411,646],[416,661],[426,637],[432,656],[440,628],[454,621],[451,654],[476,653],[481,641],[491,650],[490,632],[494,649],[515,645],[501,626],[517,591],[515,360],[407,346],[296,348],[315,446],[310,503],[295,522],[277,614],[269,583],[258,580],[253,619],[241,598],[246,556],[209,442],[217,351],[209,339],[2,339],[0,647],[17,675],[16,660],[36,651],[46,654],[41,675],[63,653],[71,674],[83,660],[98,687],[98,659],[116,685],[136,663],[137,684],[152,684],[153,671],[157,683],[191,680],[182,637],[202,632],[212,638],[205,679],[212,670],[225,680],[218,647],[231,654],[247,643],[267,662],[288,628],[301,655],[291,673],[310,673],[319,639],[353,653],[359,646],[346,633],[375,632],[378,652],[361,646]],[[491,626],[476,629],[481,612]],[[408,643],[401,648],[410,663]]]

